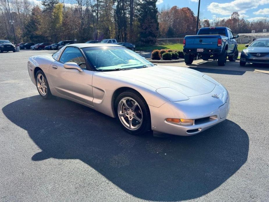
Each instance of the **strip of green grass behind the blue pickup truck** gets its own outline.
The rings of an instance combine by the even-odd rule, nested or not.
[[[238,51],[241,52],[243,49],[245,49],[245,44],[238,44]],[[183,44],[176,43],[176,44],[168,44],[168,45],[152,45],[152,46],[140,46],[136,47],[136,50],[138,51],[153,51],[155,49],[161,50],[161,49],[172,49],[172,50],[183,50]]]

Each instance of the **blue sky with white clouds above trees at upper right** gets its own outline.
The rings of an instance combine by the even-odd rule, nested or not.
[[[198,0],[158,0],[158,9],[163,6],[189,7],[197,15]],[[250,21],[269,20],[269,0],[201,0],[201,19],[229,18],[234,11]]]

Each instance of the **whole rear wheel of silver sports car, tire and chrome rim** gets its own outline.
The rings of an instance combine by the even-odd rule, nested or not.
[[[49,99],[52,97],[48,80],[43,71],[38,70],[35,75],[35,84],[39,95],[44,99]]]

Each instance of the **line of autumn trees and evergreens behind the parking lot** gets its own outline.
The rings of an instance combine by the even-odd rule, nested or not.
[[[162,8],[157,0],[10,0],[17,42],[60,40],[117,41],[154,44],[158,37],[184,37],[196,33],[197,17],[188,8]],[[0,39],[15,41],[6,0],[0,0]],[[227,26],[234,33],[269,30],[269,22],[249,22],[234,12],[229,19],[199,20],[199,27]]]

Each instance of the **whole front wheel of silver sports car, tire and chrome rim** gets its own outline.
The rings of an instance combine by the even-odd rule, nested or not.
[[[149,107],[136,91],[126,91],[118,95],[114,110],[118,122],[128,133],[140,135],[151,130]]]

